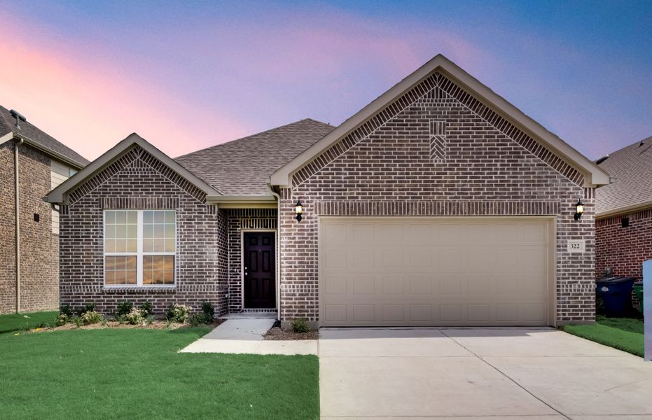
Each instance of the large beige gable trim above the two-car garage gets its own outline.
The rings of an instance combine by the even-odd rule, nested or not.
[[[498,94],[490,90],[487,86],[480,83],[476,78],[473,78],[469,73],[466,73],[457,64],[451,62],[443,55],[437,55],[429,62],[421,66],[417,71],[404,78],[398,84],[391,87],[390,90],[377,97],[373,102],[365,106],[354,116],[346,120],[342,125],[335,128],[332,132],[327,134],[324,138],[317,141],[303,153],[300,153],[296,158],[289,161],[286,165],[279,168],[270,178],[270,183],[274,186],[291,186],[292,176],[299,169],[310,163],[317,158],[321,153],[326,151],[328,147],[340,141],[347,134],[356,130],[357,127],[366,123],[366,121],[373,118],[378,112],[382,111],[389,104],[401,97],[421,83],[424,79],[428,78],[434,71],[450,76],[452,80],[459,83],[464,90],[473,94],[474,97],[480,101],[485,102],[492,109],[504,114],[508,120],[515,125],[518,125],[525,132],[531,133],[533,138],[539,141],[543,146],[546,146],[550,151],[558,155],[562,160],[567,162],[572,167],[578,169],[585,176],[585,183],[588,185],[606,185],[609,183],[609,175],[599,169],[595,163],[585,158],[581,153],[571,148],[562,139],[555,136],[555,134],[546,130],[539,123],[536,123],[532,118],[529,118],[522,113],[515,106],[507,102]]]

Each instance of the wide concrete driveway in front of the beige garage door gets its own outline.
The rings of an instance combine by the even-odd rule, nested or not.
[[[322,419],[652,419],[652,363],[551,328],[322,329]]]

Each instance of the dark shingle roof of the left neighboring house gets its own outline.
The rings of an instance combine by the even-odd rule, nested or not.
[[[10,111],[4,106],[0,106],[0,136],[10,132],[23,139],[30,146],[53,156],[53,158],[62,160],[75,169],[81,169],[89,163],[79,153],[29,123],[29,120],[20,121],[20,128],[16,127],[16,119],[11,115]]]

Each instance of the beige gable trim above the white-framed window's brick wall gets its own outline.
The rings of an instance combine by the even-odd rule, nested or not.
[[[221,193],[209,186],[207,183],[202,181],[202,179],[195,176],[195,174],[188,171],[188,169],[179,165],[168,155],[158,150],[151,144],[149,144],[145,139],[140,137],[136,133],[130,134],[126,139],[120,141],[120,143],[113,146],[113,148],[106,151],[102,156],[93,160],[88,166],[86,166],[81,171],[77,172],[74,176],[64,181],[60,186],[50,191],[46,197],[43,197],[43,200],[50,203],[67,203],[68,193],[72,190],[81,186],[85,181],[92,178],[99,172],[102,172],[106,167],[115,162],[116,159],[120,158],[124,153],[130,151],[132,147],[140,146],[144,151],[153,155],[155,158],[160,160],[163,164],[167,165],[169,169],[176,172],[183,179],[186,179],[189,183],[192,183],[195,187],[202,190],[206,195],[221,195]]]

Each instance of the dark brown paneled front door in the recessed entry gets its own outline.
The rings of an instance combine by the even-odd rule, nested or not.
[[[274,232],[244,232],[244,308],[276,307]]]

